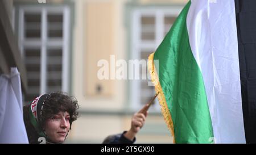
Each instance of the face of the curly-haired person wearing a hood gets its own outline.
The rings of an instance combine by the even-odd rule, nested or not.
[[[59,112],[53,115],[53,118],[46,120],[44,130],[50,140],[55,143],[63,143],[65,141],[70,128],[69,118],[68,112]]]

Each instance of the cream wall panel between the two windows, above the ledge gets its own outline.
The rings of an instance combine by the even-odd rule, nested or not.
[[[123,108],[125,81],[100,81],[97,78],[99,60],[109,61],[110,55],[121,59],[125,55],[119,3],[121,1],[76,1],[72,86],[73,94],[79,99],[82,109]],[[97,94],[97,85],[102,87],[101,94]]]

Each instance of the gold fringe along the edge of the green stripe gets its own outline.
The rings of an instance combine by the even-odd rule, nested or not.
[[[148,72],[150,72],[151,75],[151,81],[155,85],[155,91],[156,94],[158,94],[158,100],[161,106],[161,111],[164,117],[164,121],[167,124],[168,129],[171,132],[171,135],[174,137],[174,143],[175,143],[175,135],[174,135],[174,123],[172,122],[172,117],[171,113],[169,111],[169,108],[167,106],[166,98],[164,97],[164,93],[162,90],[162,87],[159,82],[158,74],[156,73],[157,70],[155,69],[155,64],[154,64],[154,54],[152,53],[150,56],[148,56]]]

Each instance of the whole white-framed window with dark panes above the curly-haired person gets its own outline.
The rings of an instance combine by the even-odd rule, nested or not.
[[[44,93],[68,92],[69,7],[20,6],[17,10],[28,80],[24,102]]]

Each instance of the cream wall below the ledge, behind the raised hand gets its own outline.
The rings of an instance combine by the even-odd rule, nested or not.
[[[122,133],[130,129],[130,120],[131,116],[82,116],[72,124],[67,143],[102,143],[108,135]],[[154,133],[153,128],[148,131],[148,128],[153,125],[155,128],[166,129],[167,132]],[[136,138],[136,143],[172,143],[173,141],[163,118],[150,115]]]

